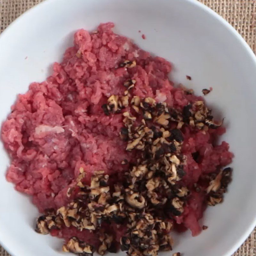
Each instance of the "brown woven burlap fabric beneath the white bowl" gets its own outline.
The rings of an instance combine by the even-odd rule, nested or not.
[[[43,0],[0,0],[0,32],[23,12],[42,1]],[[228,20],[256,53],[256,0],[199,1]],[[10,254],[4,251],[0,246],[0,256],[10,256]],[[256,228],[233,256],[256,256]]]

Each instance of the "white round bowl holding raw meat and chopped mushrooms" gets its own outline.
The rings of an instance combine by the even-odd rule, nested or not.
[[[117,33],[133,38],[143,49],[173,62],[175,82],[194,88],[197,94],[213,87],[206,99],[226,117],[223,139],[235,154],[234,179],[224,203],[205,212],[203,222],[209,228],[197,237],[190,232],[178,235],[173,252],[230,256],[256,224],[256,58],[235,29],[203,4],[195,0],[48,0],[39,4],[0,37],[0,120],[10,112],[17,93],[50,74],[51,64],[60,61],[65,48],[72,45],[74,31],[94,29],[106,21],[115,22]],[[62,241],[35,233],[37,209],[5,180],[9,159],[1,147],[0,243],[13,256],[67,255],[60,251]]]

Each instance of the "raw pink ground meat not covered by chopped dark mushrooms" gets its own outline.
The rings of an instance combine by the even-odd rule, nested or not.
[[[31,195],[40,212],[68,203],[67,189],[76,183],[80,167],[88,182],[95,170],[105,170],[117,178],[125,170],[121,162],[134,159],[134,152],[127,152],[126,143],[119,138],[122,113],[106,116],[101,108],[112,94],[124,94],[123,84],[129,77],[136,79],[133,95],[165,101],[179,110],[203,100],[173,87],[168,79],[171,64],[116,35],[113,27],[113,23],[101,24],[98,33],[93,34],[78,30],[74,46],[66,50],[61,63],[54,63],[52,76],[30,84],[2,125],[2,140],[12,159],[7,180],[18,191]],[[136,60],[137,65],[119,68],[124,60]],[[231,162],[228,144],[214,144],[224,128],[203,134],[185,127],[182,132],[183,154],[188,157],[183,178],[186,186],[193,186],[202,174],[216,172]],[[198,220],[205,207],[203,194],[192,193],[188,206],[175,219],[177,229],[190,228],[192,235],[198,234]],[[117,227],[114,230],[120,237],[123,231]],[[94,239],[97,244],[86,230],[64,228],[52,235]]]

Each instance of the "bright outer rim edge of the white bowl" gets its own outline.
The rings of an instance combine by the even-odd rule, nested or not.
[[[19,17],[17,17],[15,20],[13,20],[8,26],[7,28],[4,29],[4,31],[0,34],[0,42],[1,40],[4,38],[5,34],[7,33],[7,31],[11,30],[12,27],[15,26],[16,23],[18,23],[20,20],[22,20],[26,14],[30,13],[30,12],[34,12],[37,9],[39,9],[42,6],[51,4],[54,1],[58,1],[58,0],[44,0],[41,3],[38,3],[36,5],[34,5],[33,7],[31,7],[30,9],[28,9],[27,11],[23,12]],[[168,1],[168,0],[166,0]],[[256,55],[254,54],[254,52],[252,51],[251,47],[247,44],[247,42],[245,41],[245,39],[236,31],[236,29],[228,23],[227,20],[225,20],[223,17],[221,17],[217,12],[213,11],[210,7],[206,6],[205,4],[199,2],[198,0],[180,0],[183,2],[187,2],[190,4],[193,4],[194,6],[196,6],[197,8],[201,9],[202,11],[208,13],[209,15],[211,15],[213,18],[215,18],[216,20],[218,20],[224,27],[226,27],[231,34],[233,34],[233,36],[236,37],[236,39],[241,43],[241,45],[245,48],[245,50],[247,51],[247,53],[249,54],[248,57],[251,58],[251,60],[254,62],[255,66],[256,66]],[[223,256],[231,256],[234,252],[236,252],[236,250],[244,243],[244,241],[250,236],[250,234],[252,233],[253,229],[256,226],[256,213],[254,216],[254,219],[252,220],[251,223],[248,224],[247,230],[242,233],[235,241],[233,246],[225,253],[223,254]],[[2,234],[0,232],[0,245],[7,251],[9,252],[12,256],[20,256],[15,254],[12,249],[7,246],[4,243],[4,234]]]

